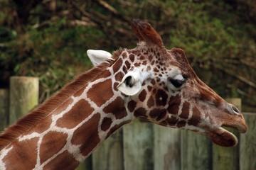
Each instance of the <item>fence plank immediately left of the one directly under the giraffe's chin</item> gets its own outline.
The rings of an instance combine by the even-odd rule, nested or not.
[[[181,132],[181,169],[211,169],[212,143],[206,136],[188,130]]]

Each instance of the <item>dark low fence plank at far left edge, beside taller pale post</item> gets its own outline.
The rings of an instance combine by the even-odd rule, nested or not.
[[[0,89],[0,132],[9,123],[9,90]]]

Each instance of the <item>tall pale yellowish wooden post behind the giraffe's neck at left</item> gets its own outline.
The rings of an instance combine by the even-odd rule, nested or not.
[[[37,77],[11,77],[10,124],[38,105],[38,86]]]

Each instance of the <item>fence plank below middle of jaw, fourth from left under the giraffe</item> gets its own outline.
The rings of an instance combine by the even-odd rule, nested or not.
[[[181,130],[154,124],[154,169],[181,169]]]

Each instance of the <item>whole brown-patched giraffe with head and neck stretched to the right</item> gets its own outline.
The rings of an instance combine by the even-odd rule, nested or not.
[[[131,25],[137,47],[87,50],[92,69],[0,135],[0,169],[75,169],[135,118],[237,145],[223,126],[247,131],[238,108],[197,77],[183,50],[166,50],[149,23]]]

